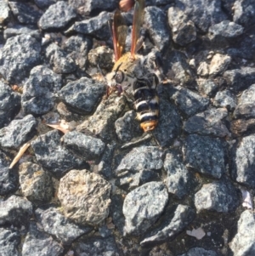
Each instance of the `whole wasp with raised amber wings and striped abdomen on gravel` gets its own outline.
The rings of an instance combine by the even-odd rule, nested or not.
[[[154,72],[155,54],[148,54],[147,57],[137,54],[142,46],[139,32],[144,17],[144,0],[122,0],[120,9],[133,11],[132,43],[130,52],[124,54],[127,26],[120,10],[116,10],[111,20],[111,36],[113,38],[115,65],[112,71],[106,75],[107,84],[111,89],[126,94],[132,98],[137,119],[144,132],[156,128],[159,117],[159,98],[156,93],[156,86],[159,77]]]

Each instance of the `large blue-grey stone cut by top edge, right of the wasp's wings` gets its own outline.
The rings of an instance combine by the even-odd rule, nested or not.
[[[203,32],[206,32],[209,26],[227,19],[221,9],[220,0],[179,0],[176,7],[184,9],[188,18]]]

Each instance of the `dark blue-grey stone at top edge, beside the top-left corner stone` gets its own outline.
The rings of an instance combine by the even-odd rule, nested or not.
[[[37,9],[27,3],[9,1],[8,4],[14,16],[20,21],[20,23],[37,24],[37,21],[42,15],[37,11]]]

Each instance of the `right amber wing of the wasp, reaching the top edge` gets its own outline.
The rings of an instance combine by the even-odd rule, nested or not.
[[[132,28],[132,43],[131,43],[131,56],[136,54],[136,50],[139,48],[139,32],[144,21],[144,0],[137,0],[134,4],[133,10],[133,28]]]

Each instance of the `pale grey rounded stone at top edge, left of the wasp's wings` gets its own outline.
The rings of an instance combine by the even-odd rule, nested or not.
[[[77,17],[75,9],[64,1],[58,1],[49,6],[42,14],[38,26],[42,30],[64,28],[71,20]]]

